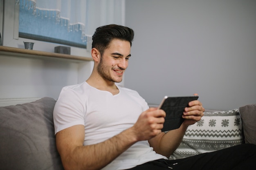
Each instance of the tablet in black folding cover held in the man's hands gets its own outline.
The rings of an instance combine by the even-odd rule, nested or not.
[[[197,100],[198,96],[186,96],[186,97],[168,97],[165,96],[159,105],[159,109],[162,109],[166,113],[164,128],[162,132],[180,128],[184,119],[182,118],[185,107],[189,106],[189,102]]]

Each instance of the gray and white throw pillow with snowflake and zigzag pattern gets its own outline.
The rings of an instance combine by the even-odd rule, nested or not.
[[[238,109],[205,112],[200,121],[187,128],[180,146],[169,159],[191,157],[242,144],[242,129]]]

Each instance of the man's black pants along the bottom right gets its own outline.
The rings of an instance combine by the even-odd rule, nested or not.
[[[159,159],[129,170],[255,170],[256,145],[242,144],[184,159]]]

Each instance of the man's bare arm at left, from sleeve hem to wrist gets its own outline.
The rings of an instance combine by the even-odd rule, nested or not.
[[[121,153],[127,150],[137,140],[130,129],[121,132],[106,141],[89,146],[65,147],[60,150],[65,170],[99,170]]]

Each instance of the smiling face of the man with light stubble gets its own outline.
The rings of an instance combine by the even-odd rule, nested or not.
[[[114,39],[104,51],[97,67],[99,75],[111,82],[121,82],[130,58],[130,42]]]

